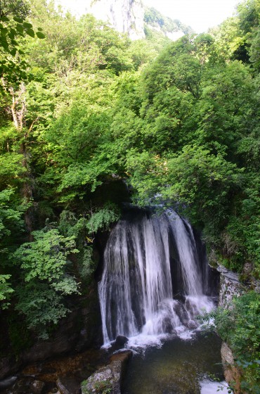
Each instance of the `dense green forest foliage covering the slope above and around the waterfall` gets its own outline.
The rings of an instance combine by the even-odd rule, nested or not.
[[[119,179],[134,203],[176,207],[212,255],[259,277],[259,0],[177,42],[131,42],[53,1],[19,1],[19,14],[16,3],[0,13],[5,316],[46,336],[88,292]],[[145,18],[168,28],[154,10]]]

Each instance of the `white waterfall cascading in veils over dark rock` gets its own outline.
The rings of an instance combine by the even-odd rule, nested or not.
[[[120,220],[104,252],[98,284],[104,343],[117,336],[180,335],[213,303],[190,224],[176,212]]]

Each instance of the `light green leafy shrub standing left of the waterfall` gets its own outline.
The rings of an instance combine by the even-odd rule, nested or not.
[[[17,290],[16,310],[25,315],[29,328],[46,336],[41,324],[57,324],[68,312],[64,296],[78,293],[77,282],[66,271],[69,255],[79,250],[74,236],[62,236],[58,229],[34,231],[33,236],[34,241],[23,243],[13,253],[13,261],[25,274],[25,283]]]

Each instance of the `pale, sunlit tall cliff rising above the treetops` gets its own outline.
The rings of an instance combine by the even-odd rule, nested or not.
[[[108,21],[115,30],[127,33],[131,39],[145,38],[147,28],[162,32],[173,40],[190,30],[179,20],[146,7],[141,0],[86,0],[86,12]]]

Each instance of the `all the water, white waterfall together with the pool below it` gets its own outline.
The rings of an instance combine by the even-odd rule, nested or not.
[[[104,346],[126,336],[136,354],[123,393],[227,393],[211,375],[223,379],[220,340],[204,336],[196,319],[214,308],[211,270],[176,212],[134,211],[117,223],[98,291]]]

